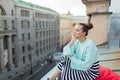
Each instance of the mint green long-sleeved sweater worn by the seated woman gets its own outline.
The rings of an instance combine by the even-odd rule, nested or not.
[[[76,40],[71,47],[67,44],[63,48],[63,55],[70,57],[70,66],[76,70],[88,70],[94,62],[98,61],[98,49],[88,38],[84,42]]]

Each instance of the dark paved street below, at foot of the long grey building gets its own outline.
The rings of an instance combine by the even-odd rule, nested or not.
[[[41,67],[40,65],[35,66],[32,68],[32,74],[31,69],[29,69],[21,73],[21,75],[18,75],[13,80],[40,80],[40,78],[49,72],[55,66],[55,64],[56,63],[53,62],[46,64],[45,67]]]

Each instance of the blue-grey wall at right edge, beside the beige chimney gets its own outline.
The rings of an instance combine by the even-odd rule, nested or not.
[[[120,13],[114,13],[109,19],[108,48],[120,48]]]

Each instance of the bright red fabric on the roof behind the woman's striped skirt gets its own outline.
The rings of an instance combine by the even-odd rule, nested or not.
[[[96,80],[120,80],[120,76],[109,68],[100,66],[100,76]]]

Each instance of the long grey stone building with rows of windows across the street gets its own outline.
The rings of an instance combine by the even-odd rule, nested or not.
[[[42,64],[59,49],[59,14],[22,0],[0,1],[0,80]]]

